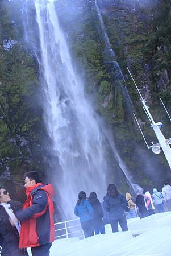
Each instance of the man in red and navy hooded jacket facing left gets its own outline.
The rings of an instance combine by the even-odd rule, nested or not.
[[[19,248],[31,247],[32,255],[49,256],[55,239],[54,190],[52,184],[41,183],[38,172],[27,172],[25,177],[27,200],[23,210],[16,213],[22,223]]]

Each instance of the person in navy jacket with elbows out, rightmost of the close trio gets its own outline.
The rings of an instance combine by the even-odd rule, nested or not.
[[[127,220],[124,210],[128,210],[126,197],[121,195],[114,184],[109,184],[103,207],[109,212],[112,232],[118,232],[118,224],[122,231],[127,231]]]

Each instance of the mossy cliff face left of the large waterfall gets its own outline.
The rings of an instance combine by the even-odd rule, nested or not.
[[[22,1],[0,1],[0,183],[23,200],[23,174],[43,169],[35,57],[23,38]]]

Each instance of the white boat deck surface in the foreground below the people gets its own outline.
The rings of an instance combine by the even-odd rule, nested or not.
[[[128,220],[128,232],[56,240],[51,256],[171,256],[171,212]],[[136,237],[134,237],[136,236]],[[30,254],[31,255],[31,254]]]

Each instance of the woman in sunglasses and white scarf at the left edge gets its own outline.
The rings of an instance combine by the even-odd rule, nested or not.
[[[19,249],[20,223],[15,216],[15,207],[10,203],[9,192],[0,188],[0,246],[1,256],[28,255],[25,249]]]

